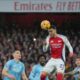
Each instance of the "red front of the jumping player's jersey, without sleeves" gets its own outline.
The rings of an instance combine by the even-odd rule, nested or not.
[[[62,38],[60,37],[50,38],[49,45],[50,45],[51,56],[54,58],[61,58],[62,50],[64,47],[64,42]]]

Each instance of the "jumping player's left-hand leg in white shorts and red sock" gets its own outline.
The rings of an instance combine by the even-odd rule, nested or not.
[[[54,69],[54,67],[53,67],[53,59],[51,58],[48,62],[47,62],[47,64],[45,65],[45,67],[43,68],[43,71],[42,71],[42,73],[41,73],[41,80],[45,80],[46,79],[46,76],[48,75],[48,74],[50,74],[50,72]]]

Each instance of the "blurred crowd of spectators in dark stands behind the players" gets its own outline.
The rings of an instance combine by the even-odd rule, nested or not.
[[[80,54],[80,32],[73,29],[60,30],[61,34],[66,35],[74,49],[75,56]],[[12,58],[12,52],[18,49],[22,53],[22,61],[26,66],[26,74],[29,76],[31,68],[37,63],[39,54],[45,54],[49,60],[49,52],[43,52],[43,39],[47,32],[38,29],[25,29],[20,27],[3,27],[0,29],[0,80],[1,71],[7,60]],[[68,52],[66,52],[68,55]],[[74,69],[74,59],[66,55],[66,71]],[[73,78],[73,77],[71,77]],[[66,80],[72,80],[67,77]]]

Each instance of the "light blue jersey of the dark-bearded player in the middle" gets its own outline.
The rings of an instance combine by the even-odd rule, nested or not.
[[[32,68],[32,71],[29,75],[29,79],[30,80],[40,80],[40,74],[42,72],[43,66],[41,66],[40,64],[35,65]],[[46,77],[46,80],[49,80],[48,77]]]

